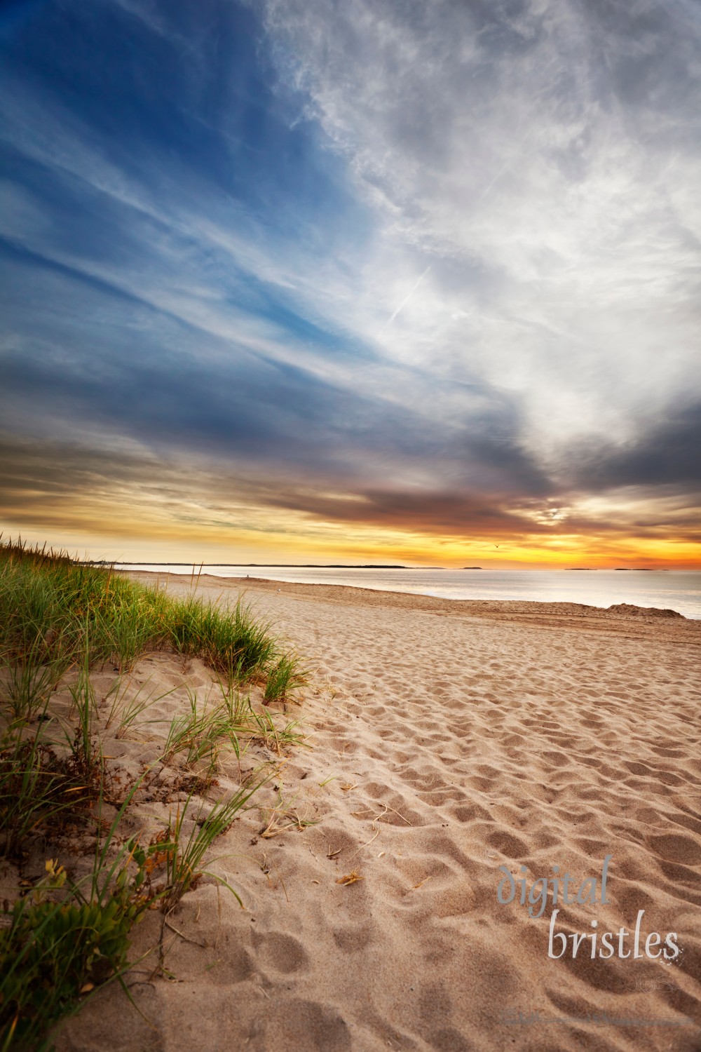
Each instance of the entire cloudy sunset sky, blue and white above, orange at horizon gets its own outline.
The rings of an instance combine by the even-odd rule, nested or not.
[[[701,568],[696,0],[2,0],[0,529]]]

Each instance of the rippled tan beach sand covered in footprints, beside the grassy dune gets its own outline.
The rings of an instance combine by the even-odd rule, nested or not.
[[[243,586],[312,669],[287,704],[308,747],[260,795],[292,828],[263,837],[266,813],[246,812],[212,865],[245,909],[205,878],[166,930],[171,977],[152,958],[130,976],[148,1024],[115,986],[60,1052],[698,1052],[701,623],[204,575],[198,593],[235,602]],[[168,654],[137,674],[182,682]],[[204,667],[189,674],[203,689]],[[181,689],[159,706],[183,704]],[[148,758],[132,739],[115,744],[125,770]],[[551,959],[551,902],[534,918],[518,888],[497,901],[500,866],[524,866],[527,888],[557,866],[600,893],[606,855],[609,904],[561,906],[555,930],[633,931],[644,910],[643,953],[676,932],[675,960],[592,959],[589,938]],[[135,930],[132,955],[159,924]]]

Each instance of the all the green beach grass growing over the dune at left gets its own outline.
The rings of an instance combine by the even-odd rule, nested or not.
[[[122,835],[120,822],[149,771],[117,801],[101,737],[110,725],[110,733],[128,735],[171,693],[131,684],[139,659],[158,650],[201,659],[221,696],[199,703],[188,688],[186,711],[167,722],[159,764],[172,768],[176,791],[183,764],[195,776],[176,817],[142,845]],[[101,712],[92,680],[105,666],[117,675]],[[53,1028],[86,995],[121,980],[129,931],[149,907],[168,914],[205,873],[238,897],[205,868],[205,856],[267,775],[259,770],[213,803],[203,794],[218,784],[223,750],[241,763],[252,742],[280,756],[282,746],[302,739],[295,722],[279,725],[244,688],[255,685],[269,706],[304,681],[297,659],[281,651],[270,625],[242,602],[222,610],[65,552],[0,543],[0,862],[17,877],[13,902],[0,903],[0,1052],[49,1048]],[[56,690],[62,713],[51,701]],[[106,832],[105,803],[118,807]],[[23,878],[27,859],[36,867],[57,843],[65,849],[71,829],[83,839],[92,831],[91,874],[74,879],[68,864],[67,872],[50,857],[42,879]]]

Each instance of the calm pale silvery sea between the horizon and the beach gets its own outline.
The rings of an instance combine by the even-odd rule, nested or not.
[[[189,564],[118,564],[121,569],[194,573]],[[701,619],[701,571],[686,570],[377,570],[281,566],[206,566],[219,578],[266,578],[303,584],[354,585],[440,599],[511,599],[612,606],[658,606]]]

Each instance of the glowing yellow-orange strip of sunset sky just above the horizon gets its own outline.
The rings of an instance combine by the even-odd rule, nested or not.
[[[74,509],[75,511],[75,509]],[[43,517],[42,517],[43,518]],[[59,517],[61,518],[61,517]],[[80,517],[75,515],[75,519]],[[274,518],[274,517],[273,517]],[[80,558],[118,562],[205,563],[397,563],[409,566],[484,569],[701,569],[701,543],[675,539],[584,534],[525,534],[514,538],[435,537],[411,530],[373,526],[344,527],[339,523],[280,523],[267,531],[220,524],[138,523],[112,520],[41,524],[21,528],[0,523],[4,538],[46,542]],[[275,528],[275,526],[277,528]]]

